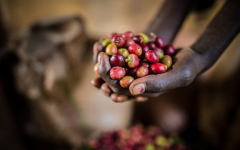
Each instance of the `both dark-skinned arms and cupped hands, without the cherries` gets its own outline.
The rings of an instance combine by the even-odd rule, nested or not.
[[[161,36],[166,43],[171,43],[187,15],[191,2],[181,1],[176,4],[175,1],[166,1],[164,6],[149,29],[153,29],[152,32]],[[188,86],[197,75],[217,61],[239,33],[239,14],[240,1],[227,1],[199,39],[192,46],[177,51],[173,58],[173,65],[167,72],[138,78],[133,81],[129,89],[123,89],[117,80],[110,78],[109,57],[105,53],[100,53],[99,73],[105,81],[101,85],[104,88],[101,89],[105,94],[110,95],[113,101],[123,102],[132,96],[137,100],[141,99],[139,101],[144,101],[146,97],[156,97],[164,91]],[[169,18],[168,22],[166,18]],[[159,26],[162,28],[159,29]],[[97,57],[97,55],[98,53],[95,52],[94,56]],[[139,92],[139,89],[143,92]]]

